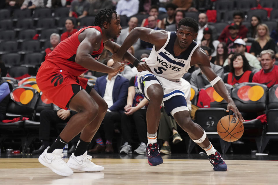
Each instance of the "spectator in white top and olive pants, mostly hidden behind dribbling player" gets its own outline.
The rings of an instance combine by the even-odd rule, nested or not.
[[[187,107],[189,112],[191,112],[191,86],[190,83],[187,82],[185,79],[180,79],[182,82],[182,88],[184,92],[184,96],[186,99]],[[173,137],[173,144],[177,144],[182,141],[180,134],[177,131],[177,122],[171,116],[168,116],[164,110],[164,107],[161,108],[161,116],[159,122],[159,130],[158,130],[158,139],[163,140],[163,145],[160,149],[160,153],[163,154],[170,154],[171,147],[169,145],[169,136]]]

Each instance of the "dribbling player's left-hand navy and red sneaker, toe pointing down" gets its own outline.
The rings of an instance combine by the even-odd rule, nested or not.
[[[160,156],[159,148],[157,143],[149,144],[147,146],[147,158],[149,165],[156,166],[163,162],[163,159]]]

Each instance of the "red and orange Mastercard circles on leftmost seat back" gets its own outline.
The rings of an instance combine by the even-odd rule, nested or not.
[[[20,102],[23,105],[30,103],[34,97],[35,90],[28,88],[15,88],[12,91],[11,97],[14,101]]]

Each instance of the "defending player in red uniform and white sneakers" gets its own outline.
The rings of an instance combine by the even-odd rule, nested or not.
[[[108,67],[97,61],[104,48],[111,53],[118,51],[120,46],[110,39],[116,39],[122,27],[120,16],[111,9],[101,10],[95,17],[94,25],[82,28],[60,42],[45,57],[36,76],[40,90],[50,101],[63,109],[78,112],[69,119],[55,142],[39,156],[41,164],[62,176],[72,175],[72,169],[89,172],[104,170],[91,162],[92,156],[87,155],[87,148],[107,112],[107,103],[87,85],[87,79],[78,76],[87,69],[103,73],[123,71],[124,64],[120,62]],[[124,58],[140,71],[150,70],[128,52]],[[62,160],[63,147],[80,132],[76,150],[65,163]]]

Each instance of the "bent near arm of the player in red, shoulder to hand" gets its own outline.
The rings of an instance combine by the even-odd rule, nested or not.
[[[111,67],[108,67],[91,56],[93,51],[99,50],[102,41],[102,35],[98,30],[85,29],[83,33],[79,34],[78,39],[81,42],[76,51],[75,62],[77,64],[89,70],[102,73],[114,73],[124,70],[125,65],[120,62],[115,62]]]

